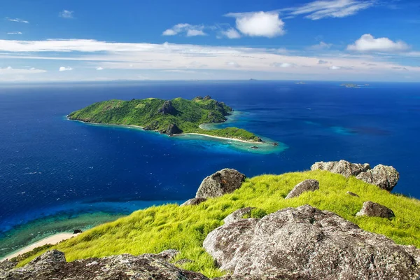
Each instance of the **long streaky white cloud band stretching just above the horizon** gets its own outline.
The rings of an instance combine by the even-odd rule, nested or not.
[[[151,71],[160,71],[161,74],[156,73],[155,76],[150,76],[158,79],[165,77],[162,76],[163,73],[172,72],[179,73],[177,78],[181,78],[181,74],[185,73],[187,78],[195,79],[253,78],[262,75],[263,78],[274,77],[275,79],[285,77],[302,79],[300,77],[306,76],[324,80],[331,78],[342,80],[356,76],[363,78],[381,77],[380,75],[395,76],[394,73],[402,73],[400,70],[402,68],[410,71],[412,73],[410,76],[414,79],[420,78],[420,67],[401,65],[394,61],[386,62],[383,58],[375,59],[372,55],[346,53],[339,55],[333,52],[332,55],[323,53],[319,57],[310,54],[299,55],[296,52],[287,52],[277,48],[172,43],[116,43],[81,39],[0,40],[0,58],[3,61],[10,59],[10,62],[13,62],[18,59],[22,64],[22,59],[27,59],[36,68],[51,64],[50,68],[57,67],[62,69],[61,71],[78,69],[78,71],[71,71],[71,78],[80,80],[89,78],[89,75],[92,79],[96,79],[94,73],[88,71],[92,68],[107,69],[106,72],[98,71],[102,73],[101,78],[107,79],[112,79],[112,77],[129,79],[128,77],[131,77],[129,73],[137,73],[136,71],[146,71],[147,76]],[[10,65],[14,64],[10,63]],[[170,71],[163,71],[168,69]],[[337,73],[332,74],[331,70],[339,69],[346,69],[346,71],[334,71]],[[203,71],[212,74],[204,76]],[[51,78],[51,73],[49,72],[48,77],[45,76],[45,78]],[[248,73],[254,73],[253,77],[249,77]],[[57,77],[57,79],[66,78],[66,76]],[[38,76],[36,78],[41,79]]]

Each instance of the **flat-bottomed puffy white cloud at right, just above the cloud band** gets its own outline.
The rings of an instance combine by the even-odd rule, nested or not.
[[[374,38],[371,34],[362,35],[352,45],[347,46],[347,50],[358,52],[399,52],[409,49],[403,41],[391,41],[389,38]]]

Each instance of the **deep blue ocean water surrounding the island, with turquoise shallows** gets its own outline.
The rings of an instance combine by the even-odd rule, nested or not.
[[[394,191],[420,197],[420,84],[141,82],[0,85],[0,256],[55,231],[183,202],[223,168],[246,176],[345,159],[393,165]],[[167,137],[88,125],[66,114],[106,99],[211,95],[236,111],[226,125],[281,143],[249,151],[232,141]]]

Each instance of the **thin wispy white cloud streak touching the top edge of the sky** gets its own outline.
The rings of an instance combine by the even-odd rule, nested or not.
[[[319,0],[302,6],[281,9],[281,11],[287,11],[289,15],[305,15],[305,18],[311,20],[321,20],[322,18],[348,17],[358,13],[360,10],[370,8],[374,3],[374,0]]]

